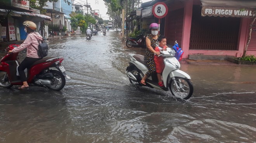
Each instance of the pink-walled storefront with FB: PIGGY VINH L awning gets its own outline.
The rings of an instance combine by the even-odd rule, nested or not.
[[[167,0],[169,12],[164,35],[168,44],[178,40],[185,58],[194,55],[241,57],[256,3],[251,0],[224,1]],[[251,54],[256,55],[255,25],[247,50],[247,55]]]

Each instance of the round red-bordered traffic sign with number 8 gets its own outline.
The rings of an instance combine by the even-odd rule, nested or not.
[[[161,19],[167,15],[168,7],[164,2],[157,2],[156,4],[154,4],[152,12],[156,18]]]

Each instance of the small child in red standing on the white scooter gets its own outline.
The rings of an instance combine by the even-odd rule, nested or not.
[[[160,52],[161,50],[166,50],[167,46],[166,46],[166,37],[163,35],[160,35],[158,37],[158,41],[159,41],[159,46],[156,46],[155,51],[156,52]],[[164,57],[162,56],[154,56],[154,61],[156,63],[156,76],[158,79],[158,85],[159,86],[164,86],[164,83],[161,79],[161,73],[164,70]]]

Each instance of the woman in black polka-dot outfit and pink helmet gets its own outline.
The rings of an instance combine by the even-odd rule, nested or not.
[[[146,45],[147,49],[144,55],[144,62],[147,65],[147,68],[149,71],[144,75],[142,80],[140,81],[141,84],[146,85],[145,81],[147,77],[150,77],[154,72],[156,72],[156,64],[154,62],[154,54],[159,55],[160,52],[155,51],[155,43],[157,42],[157,39],[159,37],[158,30],[159,26],[156,23],[152,23],[149,25],[149,29],[151,31],[151,34],[147,35],[146,37]]]

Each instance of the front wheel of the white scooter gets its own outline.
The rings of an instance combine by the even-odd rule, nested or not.
[[[170,82],[170,90],[173,96],[183,99],[189,99],[193,94],[193,85],[189,79],[183,77],[175,77]]]

